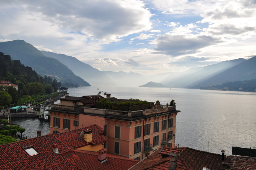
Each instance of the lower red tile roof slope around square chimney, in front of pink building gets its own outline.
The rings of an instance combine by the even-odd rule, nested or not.
[[[127,170],[138,163],[138,160],[128,158],[116,158],[107,155],[106,161],[101,163],[98,160],[98,152],[89,153],[87,151],[74,150],[74,154],[65,157],[68,161],[79,166],[82,170]]]

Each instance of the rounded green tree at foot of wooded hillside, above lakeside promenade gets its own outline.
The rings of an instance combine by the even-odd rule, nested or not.
[[[30,95],[44,95],[45,89],[41,83],[34,82],[28,83],[26,86],[23,87],[23,94],[30,94]]]

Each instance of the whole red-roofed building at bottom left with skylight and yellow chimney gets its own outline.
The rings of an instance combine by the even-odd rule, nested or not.
[[[91,132],[91,141],[90,135],[89,137],[80,136],[81,131],[87,131],[87,135]],[[102,137],[104,133],[102,128],[93,125],[75,131],[56,135],[39,135],[35,138],[0,145],[0,169],[127,170],[139,162],[111,155],[107,153],[106,148],[100,147],[102,149],[97,150],[96,148],[102,145],[100,141],[106,141]],[[84,151],[84,148],[97,151]]]

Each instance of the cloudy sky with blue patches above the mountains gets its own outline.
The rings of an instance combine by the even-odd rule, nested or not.
[[[0,42],[156,75],[256,55],[256,0],[0,0]]]

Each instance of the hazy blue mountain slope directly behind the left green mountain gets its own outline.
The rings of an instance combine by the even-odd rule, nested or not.
[[[93,85],[116,85],[104,72],[91,67],[89,64],[79,61],[75,57],[65,54],[56,54],[52,52],[41,51],[45,56],[56,58],[62,64],[66,65],[76,75]]]

